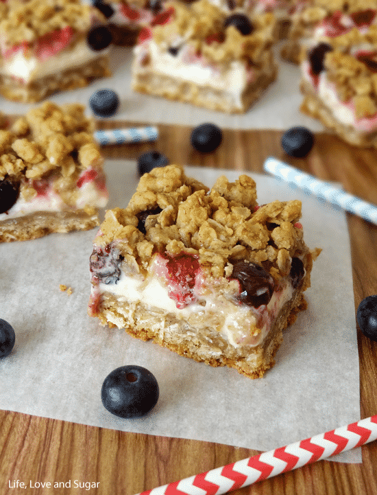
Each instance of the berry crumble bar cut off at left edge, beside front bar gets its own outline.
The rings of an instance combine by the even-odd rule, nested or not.
[[[0,129],[0,242],[99,225],[108,193],[84,106],[45,102]]]

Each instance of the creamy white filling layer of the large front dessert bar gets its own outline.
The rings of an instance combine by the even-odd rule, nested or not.
[[[214,293],[200,297],[197,303],[178,309],[175,301],[169,297],[167,287],[158,277],[149,275],[143,280],[130,277],[123,272],[116,284],[100,283],[95,291],[109,292],[127,303],[143,302],[143,305],[149,308],[165,310],[178,319],[187,320],[191,316],[201,315],[204,321],[217,322],[217,331],[234,347],[260,345],[269,333],[273,319],[293,294],[293,288],[287,281],[282,290],[273,293],[267,306],[252,308],[245,304],[232,303],[223,297],[218,298]],[[257,329],[258,321],[263,325]],[[117,326],[122,325],[118,319],[113,323]]]

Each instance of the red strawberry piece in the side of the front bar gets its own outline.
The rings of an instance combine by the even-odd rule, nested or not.
[[[202,275],[197,255],[184,252],[176,256],[159,253],[154,270],[156,275],[165,280],[168,295],[178,309],[197,300],[194,289]]]

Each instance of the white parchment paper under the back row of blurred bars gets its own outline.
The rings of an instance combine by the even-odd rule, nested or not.
[[[121,106],[114,118],[132,122],[151,124],[180,124],[197,126],[203,122],[213,122],[221,128],[231,129],[287,129],[293,126],[306,126],[313,131],[324,128],[311,117],[300,113],[300,70],[295,65],[280,59],[276,47],[278,78],[260,97],[260,100],[245,115],[227,115],[208,111],[190,104],[170,102],[164,98],[135,93],[131,83],[132,49],[112,47],[110,52],[111,78],[95,80],[89,87],[65,91],[49,97],[58,104],[81,102],[88,104],[90,95],[97,89],[110,88],[117,91]],[[8,102],[0,97],[1,111],[10,114],[24,113],[32,104]],[[90,111],[88,110],[88,115]]]

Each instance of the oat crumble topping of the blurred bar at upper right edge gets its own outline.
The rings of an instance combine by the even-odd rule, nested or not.
[[[377,26],[365,34],[355,28],[326,43],[333,47],[324,56],[326,77],[339,99],[353,104],[357,119],[372,117],[377,113]]]

